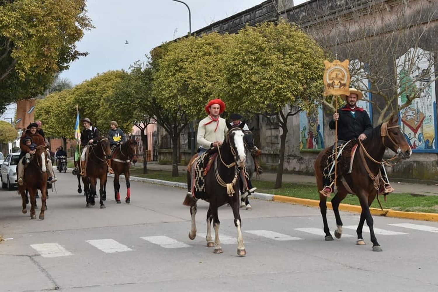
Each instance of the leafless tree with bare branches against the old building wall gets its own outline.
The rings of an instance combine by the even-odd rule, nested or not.
[[[333,57],[350,59],[352,85],[373,95],[377,123],[410,106],[437,80],[436,1],[349,0],[330,14],[314,8],[307,13],[318,18],[308,32]],[[421,60],[427,65],[420,70]],[[324,103],[335,110],[332,102]]]

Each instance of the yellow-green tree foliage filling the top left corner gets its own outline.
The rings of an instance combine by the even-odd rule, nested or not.
[[[53,75],[86,56],[75,43],[93,28],[85,0],[0,2],[0,112],[41,94]]]

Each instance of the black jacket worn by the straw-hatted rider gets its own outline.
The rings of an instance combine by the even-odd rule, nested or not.
[[[338,120],[338,139],[349,141],[351,139],[357,139],[360,134],[370,137],[373,131],[370,117],[366,110],[357,110],[355,116],[351,114],[349,110],[345,110],[346,106],[339,109]],[[329,123],[329,127],[335,130],[335,121],[332,119]]]

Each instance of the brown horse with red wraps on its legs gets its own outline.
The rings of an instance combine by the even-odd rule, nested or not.
[[[114,197],[117,204],[120,204],[120,183],[119,176],[125,175],[126,180],[126,198],[125,203],[131,203],[131,183],[129,182],[129,168],[131,161],[135,164],[137,162],[137,142],[135,140],[127,139],[123,144],[119,144],[114,148],[111,155],[111,167],[114,171]]]

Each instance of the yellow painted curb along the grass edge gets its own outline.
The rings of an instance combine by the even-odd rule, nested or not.
[[[299,204],[299,205],[319,208],[319,201],[318,200],[302,199],[302,198],[287,197],[287,196],[280,196],[280,195],[273,195],[272,199],[276,202]],[[333,209],[331,202],[327,202],[327,208]],[[360,213],[360,212],[362,212],[362,208],[360,206],[356,206],[356,205],[339,204],[339,211]],[[438,222],[438,213],[404,212],[404,211],[394,211],[391,209],[383,209],[383,211],[382,211],[379,208],[370,208],[370,211],[371,211],[372,215],[377,215],[377,216],[386,216],[386,217],[406,218],[406,219]]]

